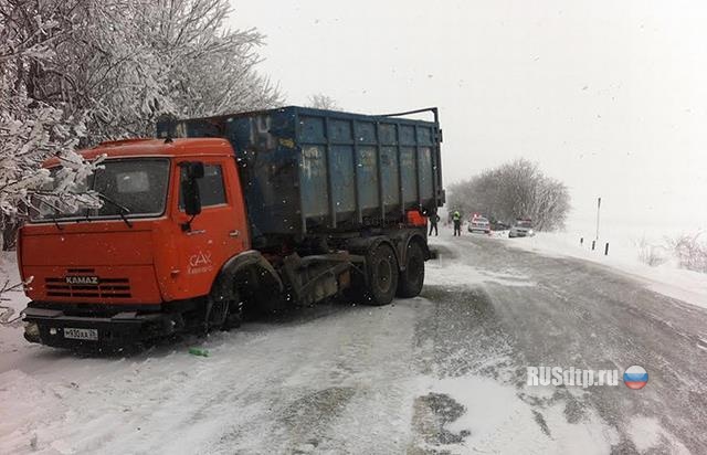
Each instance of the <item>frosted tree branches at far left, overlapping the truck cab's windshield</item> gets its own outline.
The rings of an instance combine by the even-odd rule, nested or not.
[[[39,200],[56,207],[99,201],[74,191],[75,182],[94,169],[74,152],[85,135],[82,119],[66,115],[63,103],[36,96],[46,91],[41,75],[71,28],[59,30],[60,15],[45,2],[0,0],[0,228],[4,232]],[[52,156],[70,165],[53,177],[40,169]],[[50,189],[40,190],[50,182]]]

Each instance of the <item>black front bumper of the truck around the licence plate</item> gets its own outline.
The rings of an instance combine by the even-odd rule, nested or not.
[[[169,313],[123,311],[97,316],[65,311],[29,306],[22,319],[25,322],[24,338],[55,348],[122,348],[168,336],[181,326],[180,316]],[[66,338],[66,328],[96,329],[98,339]]]

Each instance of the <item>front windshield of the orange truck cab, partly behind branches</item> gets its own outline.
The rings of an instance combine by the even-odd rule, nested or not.
[[[101,209],[80,209],[67,213],[39,202],[39,213],[32,221],[56,219],[159,216],[165,212],[169,181],[169,160],[166,158],[131,158],[104,161],[87,179],[82,190],[95,190],[105,200]]]

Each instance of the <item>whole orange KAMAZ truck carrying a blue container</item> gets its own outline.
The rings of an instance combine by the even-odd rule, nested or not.
[[[124,347],[344,292],[418,295],[424,215],[444,203],[431,110],[433,123],[286,107],[83,151],[106,156],[86,182],[103,207],[41,207],[19,234],[25,338]]]

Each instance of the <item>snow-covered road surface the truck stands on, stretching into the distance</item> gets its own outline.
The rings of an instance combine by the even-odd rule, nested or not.
[[[382,308],[331,303],[128,358],[0,328],[0,453],[707,452],[705,309],[504,239],[433,242],[422,296]],[[631,364],[645,389],[526,385],[529,366]]]

